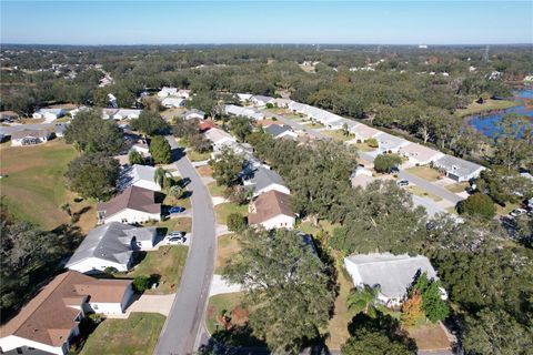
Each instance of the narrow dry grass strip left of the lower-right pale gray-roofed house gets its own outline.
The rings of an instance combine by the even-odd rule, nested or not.
[[[342,344],[350,337],[348,324],[351,321],[351,316],[348,311],[346,298],[350,290],[353,287],[351,280],[344,275],[342,266],[338,265],[336,272],[340,290],[335,300],[334,315],[328,325],[330,337],[326,341],[328,347],[332,349],[340,349]]]

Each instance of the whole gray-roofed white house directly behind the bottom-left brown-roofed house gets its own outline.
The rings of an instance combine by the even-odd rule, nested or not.
[[[98,226],[83,239],[64,267],[80,273],[101,273],[108,267],[127,272],[133,263],[133,251],[153,247],[157,234],[155,227],[119,222]]]

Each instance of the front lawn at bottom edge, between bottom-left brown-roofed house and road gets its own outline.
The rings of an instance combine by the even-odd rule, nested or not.
[[[128,320],[105,320],[89,336],[80,355],[152,354],[163,328],[161,314],[132,313]]]

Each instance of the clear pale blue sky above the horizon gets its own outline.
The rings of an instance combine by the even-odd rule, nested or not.
[[[2,43],[532,43],[533,1],[1,0]]]

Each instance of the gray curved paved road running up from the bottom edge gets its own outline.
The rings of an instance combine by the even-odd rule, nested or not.
[[[179,154],[174,138],[168,136],[167,140],[173,151]],[[181,156],[174,164],[183,178],[190,179],[193,237],[178,294],[155,346],[154,354],[158,355],[192,354],[197,349],[197,338],[204,336],[203,315],[217,252],[215,220],[211,196],[194,166],[185,156]]]

